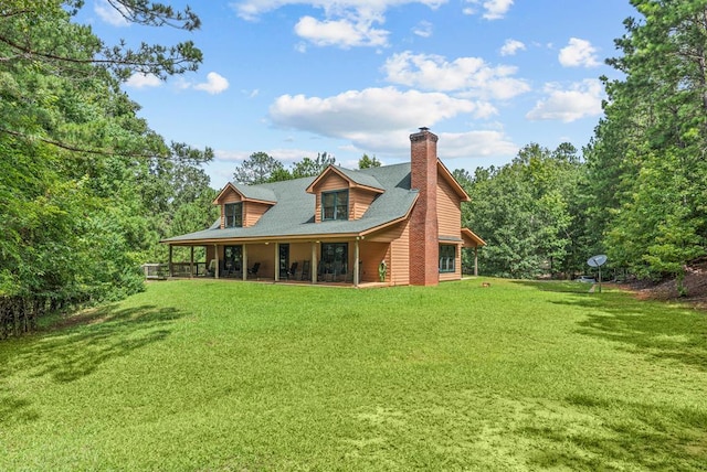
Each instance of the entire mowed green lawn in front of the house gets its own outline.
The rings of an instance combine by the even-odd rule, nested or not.
[[[588,288],[150,283],[0,343],[0,470],[706,470],[705,312]]]

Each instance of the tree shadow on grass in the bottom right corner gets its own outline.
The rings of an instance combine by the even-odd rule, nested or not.
[[[551,446],[535,453],[541,469],[705,470],[707,414],[694,408],[606,401],[584,395],[566,399],[601,420],[600,429],[573,425],[529,426],[521,432]]]

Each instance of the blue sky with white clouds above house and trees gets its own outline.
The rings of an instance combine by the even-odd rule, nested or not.
[[[452,170],[505,164],[530,142],[581,148],[602,116],[599,77],[619,77],[604,60],[636,14],[627,0],[201,0],[187,33],[86,4],[80,21],[108,43],[202,50],[199,72],[124,89],[168,140],[214,149],[215,189],[260,151],[286,165],[324,151],[350,168],[363,153],[405,162],[423,126]]]

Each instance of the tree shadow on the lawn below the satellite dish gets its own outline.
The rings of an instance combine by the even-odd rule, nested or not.
[[[707,372],[707,313],[704,311],[662,301],[642,301],[618,290],[579,292],[572,287],[579,285],[577,282],[519,283],[567,292],[563,301],[552,303],[582,309],[587,319],[579,323],[580,334],[621,343],[632,352]]]

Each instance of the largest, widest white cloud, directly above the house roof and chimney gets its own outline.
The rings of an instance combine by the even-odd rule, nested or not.
[[[281,127],[344,138],[359,148],[381,150],[399,146],[401,139],[404,144],[410,129],[479,109],[472,100],[441,93],[386,87],[349,90],[327,98],[283,95],[271,106],[270,118]]]

